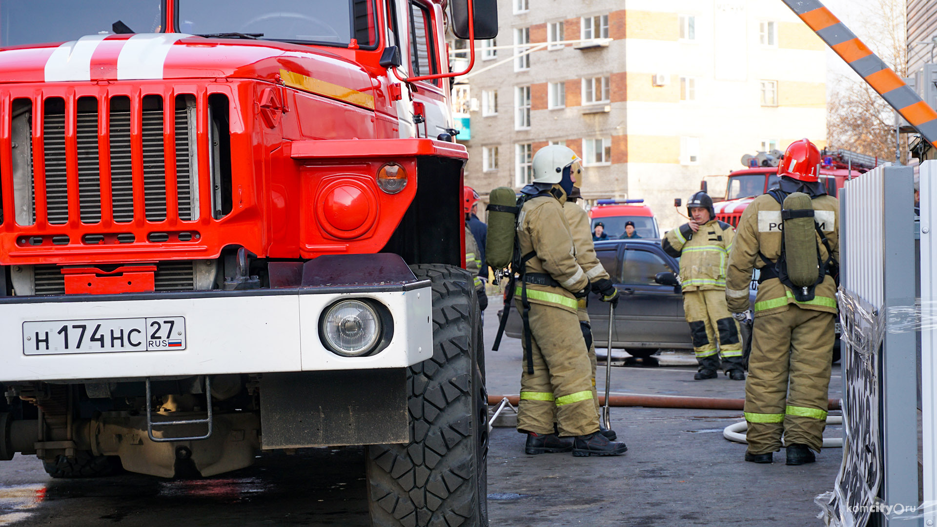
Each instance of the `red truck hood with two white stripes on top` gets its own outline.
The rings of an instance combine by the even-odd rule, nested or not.
[[[2,83],[218,77],[275,83],[284,73],[301,89],[304,84],[317,83],[365,94],[374,89],[364,68],[335,53],[271,40],[201,38],[182,33],[89,35],[61,44],[0,51]]]

